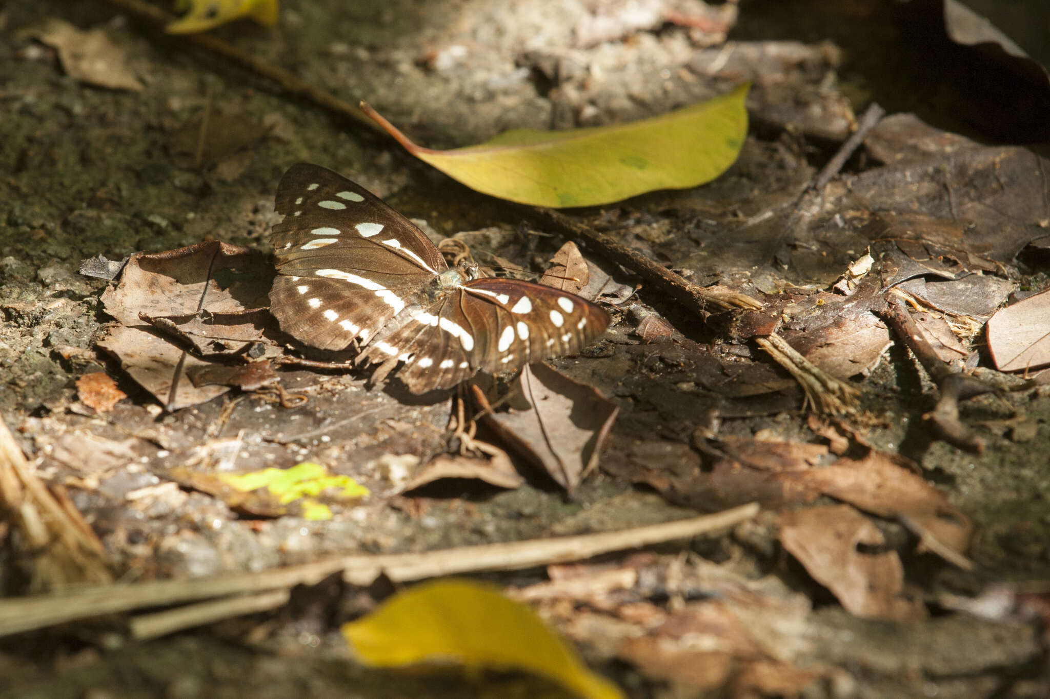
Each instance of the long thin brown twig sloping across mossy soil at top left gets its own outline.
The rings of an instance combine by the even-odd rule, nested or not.
[[[147,20],[153,24],[163,26],[175,21],[173,16],[164,12],[160,7],[143,2],[142,0],[109,0],[109,3],[120,7],[126,13]],[[243,68],[247,68],[248,70],[252,70],[262,76],[264,78],[272,80],[288,94],[309,100],[322,109],[327,109],[328,111],[335,112],[340,116],[351,119],[358,124],[368,126],[371,130],[377,133],[386,134],[385,131],[379,128],[375,122],[365,116],[364,113],[353,104],[339,100],[333,94],[314,87],[294,73],[285,70],[284,68],[278,68],[272,63],[252,56],[247,51],[243,51],[222,39],[217,39],[210,34],[188,34],[181,35],[178,40],[196,44],[197,46],[201,46],[202,48],[205,48],[213,54],[217,54],[223,58],[229,59]]]

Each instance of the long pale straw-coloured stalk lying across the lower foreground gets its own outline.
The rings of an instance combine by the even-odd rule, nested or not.
[[[91,587],[50,595],[0,599],[0,636],[103,614],[315,585],[342,571],[343,579],[371,585],[381,573],[395,582],[477,571],[520,570],[723,531],[754,517],[756,503],[715,514],[624,531],[467,546],[424,553],[352,555],[261,573],[231,573],[189,580],[152,580]]]

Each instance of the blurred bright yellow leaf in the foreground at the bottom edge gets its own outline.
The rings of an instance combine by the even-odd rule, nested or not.
[[[586,699],[623,699],[530,609],[490,586],[439,580],[402,592],[343,624],[357,657],[380,666],[449,660],[469,669],[523,670]]]

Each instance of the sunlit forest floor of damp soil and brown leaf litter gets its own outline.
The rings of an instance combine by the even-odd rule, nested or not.
[[[514,487],[484,469],[423,474],[448,451],[455,402],[411,401],[358,373],[281,370],[287,391],[309,397],[299,406],[211,386],[165,410],[125,370],[130,348],[99,344],[116,326],[103,294],[117,282],[81,275],[82,260],[211,240],[269,255],[274,192],[294,163],[352,177],[480,260],[542,272],[564,230],[107,2],[0,9],[0,418],[36,473],[64,488],[122,581],[624,530],[757,501],[762,511],[730,531],[574,572],[484,577],[528,598],[558,575],[663,576],[658,592],[618,591],[615,609],[593,590],[531,597],[631,697],[1050,696],[1050,389],[994,370],[982,330],[996,306],[1050,287],[1045,150],[984,135],[1003,120],[982,123],[973,114],[986,105],[936,57],[905,50],[883,3],[830,16],[815,7],[826,3],[798,3],[792,18],[765,6],[779,3],[743,3],[738,21],[721,5],[693,26],[667,14],[675,3],[637,3],[656,9],[635,24],[612,21],[624,3],[585,4],[286,0],[272,29],[213,31],[348,102],[368,100],[435,148],[652,116],[754,83],[751,131],[721,177],[567,212],[689,282],[760,305],[705,318],[581,246],[603,280],[592,298],[613,323],[581,356],[550,364],[618,416],[571,495],[509,447]],[[140,86],[69,77],[39,40],[51,18],[100,27],[118,50],[107,59],[126,62]],[[811,188],[873,100],[887,116]],[[196,140],[205,112],[214,146]],[[853,279],[866,254],[872,272]],[[908,305],[888,302],[890,288]],[[920,323],[944,366],[993,388],[960,401],[954,437],[940,439],[927,419],[945,384],[904,346],[895,309]],[[773,334],[857,397],[844,389],[845,407],[821,411],[818,396],[814,410],[760,348]],[[123,400],[104,405],[78,383],[100,373]],[[301,462],[372,495],[329,502],[334,516],[315,521],[210,478]],[[828,534],[852,538],[836,549]],[[14,524],[0,537],[7,601],[41,592],[39,551]],[[674,588],[673,575],[696,589]],[[153,640],[132,640],[117,617],[8,636],[0,697],[562,696],[534,678],[346,662],[334,623],[374,607],[390,584],[356,596],[321,586],[298,611]],[[645,621],[628,597],[647,605]],[[722,600],[717,614],[711,600]],[[688,647],[669,618],[715,648]]]

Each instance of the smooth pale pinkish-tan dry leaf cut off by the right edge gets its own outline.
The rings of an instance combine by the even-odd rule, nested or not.
[[[988,350],[1000,372],[1050,364],[1050,292],[1003,309],[988,321]]]

